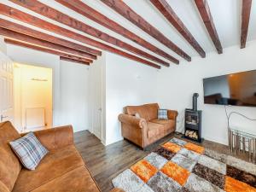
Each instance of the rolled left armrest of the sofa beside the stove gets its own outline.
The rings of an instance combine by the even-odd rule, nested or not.
[[[147,125],[147,121],[143,118],[137,118],[135,116],[131,116],[129,114],[119,114],[119,121],[128,124],[128,125],[134,125],[140,128],[143,128]]]

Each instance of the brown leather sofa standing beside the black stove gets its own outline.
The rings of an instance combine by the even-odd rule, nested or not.
[[[125,113],[119,114],[122,136],[145,148],[175,131],[177,111],[168,110],[168,119],[157,119],[158,109],[157,103],[125,107]]]

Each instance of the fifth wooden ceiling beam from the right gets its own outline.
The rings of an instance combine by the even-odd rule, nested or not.
[[[125,27],[120,26],[114,20],[110,20],[105,15],[102,15],[100,12],[96,11],[96,9],[90,8],[90,6],[86,5],[82,1],[80,0],[55,0],[55,1],[66,6],[68,9],[72,9],[73,11],[81,15],[84,15],[90,20],[93,20],[98,24],[107,27],[113,32],[117,32],[119,35],[122,35],[125,38],[129,38],[131,41],[143,46],[148,50],[151,50],[155,54],[163,56],[167,60],[172,61],[174,63],[178,63],[177,59],[174,58],[172,55],[169,55],[165,51],[154,46],[153,44],[148,43],[143,38],[140,38],[139,36],[137,36],[137,34],[125,29]]]

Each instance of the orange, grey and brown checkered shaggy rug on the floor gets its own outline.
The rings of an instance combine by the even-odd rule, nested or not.
[[[172,138],[112,183],[126,192],[256,192],[256,165]]]

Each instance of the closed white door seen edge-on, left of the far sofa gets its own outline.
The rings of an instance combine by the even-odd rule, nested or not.
[[[93,134],[102,140],[102,66],[96,63],[92,70],[92,127]]]

